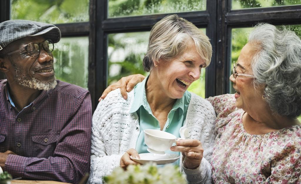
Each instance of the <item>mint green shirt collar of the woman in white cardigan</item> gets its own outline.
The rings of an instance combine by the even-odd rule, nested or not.
[[[146,99],[146,92],[145,92],[145,84],[148,80],[147,76],[141,83],[138,83],[134,88],[134,101],[132,103],[132,107],[129,113],[133,113],[138,111],[138,109],[143,106],[145,110],[147,110],[151,114],[151,108]],[[187,91],[185,91],[186,93]],[[172,107],[172,110],[179,109],[179,118],[184,113],[184,98],[179,98],[175,101],[175,104]]]

